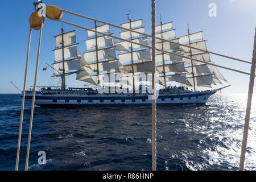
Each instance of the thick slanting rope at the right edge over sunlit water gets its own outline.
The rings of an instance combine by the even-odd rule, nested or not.
[[[247,97],[247,106],[245,113],[245,125],[243,129],[243,140],[242,140],[242,148],[241,148],[241,156],[240,156],[240,166],[239,170],[243,171],[245,164],[245,152],[246,152],[246,144],[249,130],[249,122],[250,122],[250,113],[251,113],[251,100],[253,98],[253,87],[255,80],[255,66],[256,66],[256,29],[255,29],[255,37],[254,37],[254,50],[253,50],[253,60],[251,61],[251,75],[250,75],[250,83]]]

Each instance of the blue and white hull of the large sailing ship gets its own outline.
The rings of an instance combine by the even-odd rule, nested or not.
[[[216,91],[192,92],[182,94],[160,94],[158,106],[204,105]],[[32,101],[32,94],[25,96]],[[150,106],[152,100],[146,94],[96,94],[96,95],[44,95],[36,94],[35,105],[41,107],[126,107]]]

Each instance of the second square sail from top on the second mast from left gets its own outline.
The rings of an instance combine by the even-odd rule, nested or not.
[[[92,49],[96,49],[96,38],[85,40],[86,43],[86,51],[90,51]],[[108,38],[108,36],[100,36],[97,38],[97,47],[107,47],[114,46],[112,38]]]

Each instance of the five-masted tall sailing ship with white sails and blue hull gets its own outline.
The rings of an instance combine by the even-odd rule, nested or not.
[[[128,19],[129,22],[121,26],[138,33],[122,30],[119,32],[121,38],[151,46],[147,36],[139,34],[145,32],[142,19]],[[97,26],[95,22],[92,30],[110,34],[108,24]],[[158,38],[207,50],[203,31],[190,34],[188,28],[187,35],[176,38],[172,22],[162,23],[162,18],[155,31]],[[151,49],[87,32],[84,56],[77,50],[75,30],[64,32],[61,28],[61,34],[55,36],[55,60],[50,67],[53,77],[61,78],[61,86],[40,88],[35,104],[46,107],[151,105]],[[158,41],[156,48],[210,62],[209,53],[171,42]],[[171,53],[156,51],[155,63],[157,105],[203,105],[216,90],[202,91],[199,88],[212,88],[212,85],[227,82],[216,67]],[[84,82],[84,88],[67,88],[65,77],[73,74],[76,74],[76,80]],[[25,98],[32,101],[32,92],[26,91]]]

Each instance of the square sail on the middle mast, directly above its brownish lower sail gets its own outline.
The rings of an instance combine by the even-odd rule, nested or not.
[[[118,55],[121,64],[129,63],[131,61],[131,53],[122,53]],[[150,49],[133,52],[133,60],[151,60]]]

